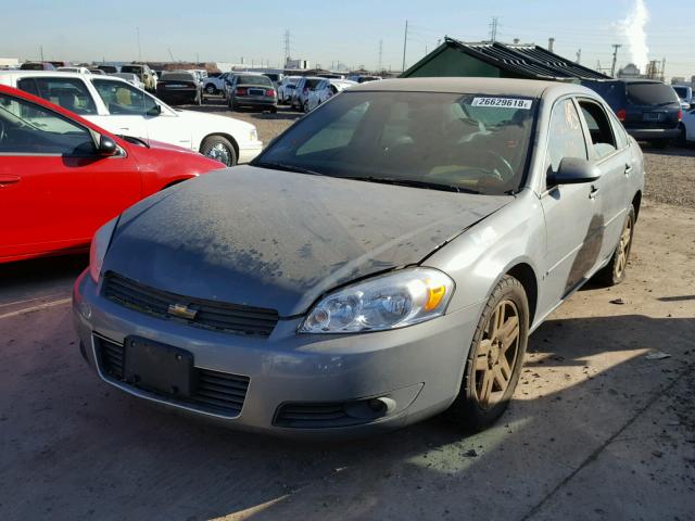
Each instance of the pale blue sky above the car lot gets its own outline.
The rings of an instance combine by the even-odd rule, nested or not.
[[[618,66],[632,61],[621,29],[640,0],[343,0],[191,1],[0,0],[0,58],[66,61],[167,61],[269,63],[279,66],[290,31],[292,58],[329,68],[341,62],[400,69],[408,21],[406,67],[452,36],[547,46],[592,68],[610,67],[612,43],[621,43]],[[642,0],[648,59],[666,58],[666,75],[695,75],[695,3]],[[3,7],[4,4],[4,7]],[[299,9],[299,7],[304,9]],[[138,50],[138,28],[140,51]]]

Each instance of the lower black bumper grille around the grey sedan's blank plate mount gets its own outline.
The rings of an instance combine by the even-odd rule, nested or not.
[[[115,380],[125,385],[129,385],[123,380],[125,363],[125,348],[123,343],[114,342],[101,335],[94,335],[94,345],[97,347],[97,363],[99,364],[102,374],[108,380]],[[212,371],[198,367],[194,371],[198,385],[195,393],[190,398],[175,397],[161,393],[151,394],[156,394],[174,404],[193,406],[199,410],[228,417],[239,416],[247,397],[247,391],[249,390],[249,377]]]

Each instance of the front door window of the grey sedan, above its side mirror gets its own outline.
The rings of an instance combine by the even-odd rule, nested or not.
[[[589,158],[581,120],[572,100],[567,99],[555,104],[551,114],[548,136],[547,158],[552,171],[557,171],[563,157]]]

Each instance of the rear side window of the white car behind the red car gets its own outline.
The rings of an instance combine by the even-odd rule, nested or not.
[[[67,109],[75,114],[97,114],[97,105],[87,86],[78,78],[22,78],[17,87],[51,103]]]

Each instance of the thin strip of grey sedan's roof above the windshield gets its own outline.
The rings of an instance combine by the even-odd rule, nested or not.
[[[584,93],[596,96],[595,91],[578,84],[563,81],[541,81],[536,79],[515,78],[395,78],[359,84],[350,89],[359,91],[402,91],[402,92],[447,92],[485,93],[491,96],[515,94],[541,98],[546,94]]]

